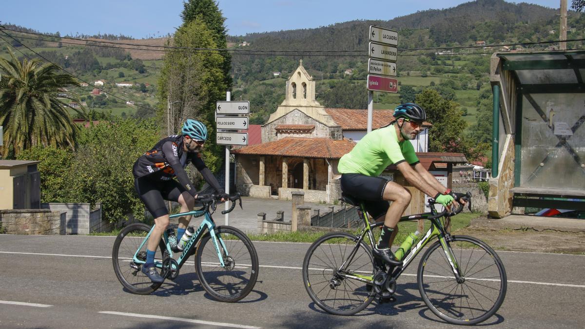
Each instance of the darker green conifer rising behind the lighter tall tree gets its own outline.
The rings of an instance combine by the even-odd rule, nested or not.
[[[188,0],[183,2],[183,12],[181,12],[183,26],[195,20],[202,20],[207,28],[211,30],[212,37],[219,49],[228,47],[227,30],[225,28],[225,17],[215,0]],[[232,87],[232,56],[227,51],[219,52],[223,56],[222,70],[226,88]]]

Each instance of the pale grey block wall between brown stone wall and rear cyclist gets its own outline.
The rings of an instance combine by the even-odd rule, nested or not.
[[[94,210],[89,203],[42,203],[41,208],[66,213],[64,225],[66,234],[90,234],[90,232],[109,232],[109,222],[102,222],[101,204]]]

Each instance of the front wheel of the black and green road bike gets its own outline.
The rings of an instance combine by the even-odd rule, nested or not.
[[[450,324],[483,322],[500,309],[507,277],[498,255],[479,239],[454,235],[446,242],[450,252],[436,241],[418,265],[418,290],[433,313]],[[447,254],[454,259],[448,259]],[[450,263],[459,267],[457,282]]]

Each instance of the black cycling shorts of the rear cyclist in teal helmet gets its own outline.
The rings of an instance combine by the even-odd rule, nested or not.
[[[154,180],[149,177],[134,179],[134,187],[140,200],[146,205],[154,218],[168,215],[167,205],[164,200],[178,202],[181,193],[187,191],[176,180]]]

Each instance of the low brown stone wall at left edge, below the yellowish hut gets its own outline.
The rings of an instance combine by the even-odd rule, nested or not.
[[[49,209],[0,210],[2,233],[65,234],[66,213]]]

